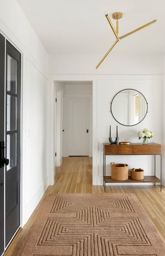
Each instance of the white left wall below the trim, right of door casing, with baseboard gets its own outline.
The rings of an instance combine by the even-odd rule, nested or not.
[[[47,79],[26,63],[26,220],[48,186]]]

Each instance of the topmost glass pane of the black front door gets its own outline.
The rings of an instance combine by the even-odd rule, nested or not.
[[[18,62],[8,55],[8,77],[7,90],[8,92],[17,94],[17,77],[18,77]]]

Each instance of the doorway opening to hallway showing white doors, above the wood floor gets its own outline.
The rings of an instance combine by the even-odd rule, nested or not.
[[[54,169],[63,157],[92,157],[92,81],[54,82]]]

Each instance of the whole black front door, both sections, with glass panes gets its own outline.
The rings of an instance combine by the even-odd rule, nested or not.
[[[21,54],[0,34],[0,255],[20,226],[20,99]]]

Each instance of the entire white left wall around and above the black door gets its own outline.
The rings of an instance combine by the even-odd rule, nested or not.
[[[0,32],[22,53],[22,226],[48,186],[48,55],[16,0],[1,0]]]

